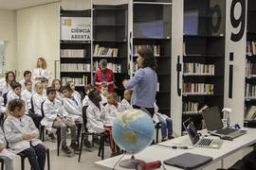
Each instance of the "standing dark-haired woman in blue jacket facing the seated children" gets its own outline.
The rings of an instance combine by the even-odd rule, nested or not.
[[[148,47],[138,50],[137,54],[137,64],[140,68],[132,79],[129,81],[125,79],[123,85],[125,89],[134,89],[131,100],[133,108],[144,108],[153,115],[157,85],[156,59],[153,51]]]

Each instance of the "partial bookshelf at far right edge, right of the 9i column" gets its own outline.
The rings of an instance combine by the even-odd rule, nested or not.
[[[255,119],[256,109],[256,2],[247,1],[247,65],[246,65],[246,88],[245,88],[245,126],[247,122]]]

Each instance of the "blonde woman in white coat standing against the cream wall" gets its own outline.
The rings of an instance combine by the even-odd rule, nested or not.
[[[41,81],[41,79],[44,79],[44,78],[49,80],[50,77],[51,77],[51,73],[47,68],[46,59],[44,58],[37,59],[36,68],[33,71],[33,79],[35,80],[35,83]]]

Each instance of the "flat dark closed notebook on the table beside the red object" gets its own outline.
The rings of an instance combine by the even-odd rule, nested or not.
[[[164,161],[164,163],[167,165],[176,166],[183,169],[194,169],[210,161],[212,161],[211,157],[199,154],[184,153],[172,159],[166,160]]]

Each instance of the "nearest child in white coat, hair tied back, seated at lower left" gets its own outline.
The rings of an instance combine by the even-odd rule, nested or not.
[[[32,119],[25,115],[25,102],[19,99],[9,101],[8,110],[4,131],[9,148],[16,153],[24,153],[32,169],[44,169],[46,147],[38,139],[39,132]]]

